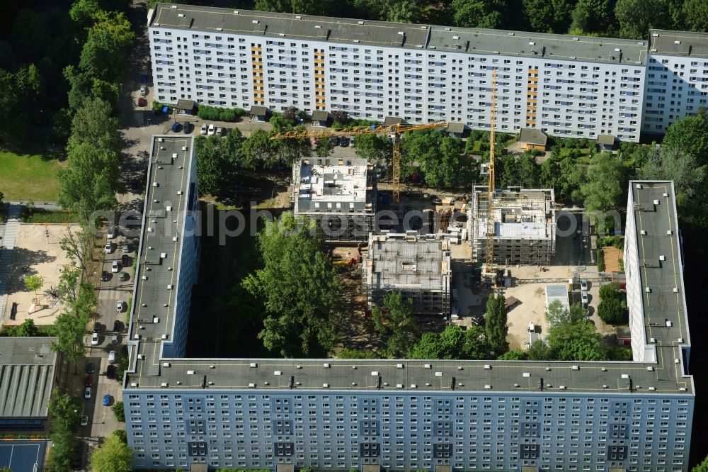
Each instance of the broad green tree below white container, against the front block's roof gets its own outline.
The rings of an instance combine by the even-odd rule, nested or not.
[[[590,322],[552,327],[548,344],[559,361],[600,361],[605,358],[603,337]]]

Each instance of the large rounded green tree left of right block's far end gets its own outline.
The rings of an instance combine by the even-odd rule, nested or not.
[[[593,157],[588,166],[586,183],[581,186],[586,211],[604,212],[622,208],[622,199],[627,195],[627,181],[627,169],[618,156],[603,152]]]

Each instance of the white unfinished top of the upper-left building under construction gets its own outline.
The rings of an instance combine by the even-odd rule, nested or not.
[[[372,210],[373,164],[366,159],[300,159],[295,164],[296,213],[355,213]]]

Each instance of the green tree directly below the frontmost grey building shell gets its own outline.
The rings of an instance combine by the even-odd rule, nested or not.
[[[385,339],[387,356],[404,357],[411,342],[418,337],[413,300],[404,298],[400,292],[392,292],[384,296],[382,305],[371,310],[374,327]]]

